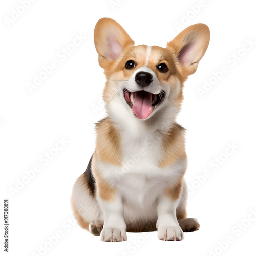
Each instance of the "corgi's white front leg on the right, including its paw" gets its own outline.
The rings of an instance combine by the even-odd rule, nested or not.
[[[177,200],[162,195],[157,206],[157,230],[160,240],[178,241],[184,238],[176,218]]]

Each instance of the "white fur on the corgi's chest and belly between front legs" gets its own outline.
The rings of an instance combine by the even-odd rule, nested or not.
[[[163,189],[180,178],[186,160],[180,159],[172,166],[160,168],[160,136],[145,135],[129,139],[123,134],[123,138],[122,166],[98,162],[99,169],[104,170],[101,175],[115,186],[121,195],[125,221],[154,219],[157,216],[158,199]]]

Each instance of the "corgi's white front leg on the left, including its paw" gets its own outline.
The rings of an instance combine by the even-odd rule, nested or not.
[[[123,219],[122,200],[117,193],[112,200],[98,199],[104,214],[104,225],[100,240],[106,242],[126,241],[126,224]]]

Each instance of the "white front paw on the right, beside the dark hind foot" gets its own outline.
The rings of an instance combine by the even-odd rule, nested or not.
[[[158,238],[164,241],[179,241],[184,239],[184,233],[178,226],[161,227],[158,229]]]

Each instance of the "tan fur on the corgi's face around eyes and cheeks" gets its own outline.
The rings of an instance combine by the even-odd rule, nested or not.
[[[108,81],[103,90],[103,99],[106,104],[108,104],[117,93],[116,81],[128,80],[137,69],[145,66],[146,50],[146,45],[126,47],[119,58],[105,66],[104,72]],[[182,70],[177,68],[175,54],[168,48],[152,46],[149,59],[147,67],[156,73],[159,81],[167,82],[172,87],[172,101],[176,107],[180,107],[183,100],[183,83],[187,79],[187,76],[182,76]],[[125,69],[125,63],[129,60],[133,60],[136,63],[134,69]],[[157,69],[159,63],[165,63],[168,67],[168,72],[159,72]],[[180,81],[180,83],[177,83],[177,80]]]

